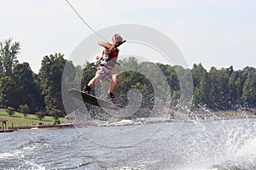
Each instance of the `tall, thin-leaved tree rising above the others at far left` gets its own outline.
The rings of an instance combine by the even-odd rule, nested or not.
[[[14,66],[18,63],[20,42],[12,42],[13,38],[0,42],[0,76],[11,77]]]

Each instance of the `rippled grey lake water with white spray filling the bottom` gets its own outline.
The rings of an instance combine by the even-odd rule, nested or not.
[[[0,169],[256,169],[256,120],[0,133]]]

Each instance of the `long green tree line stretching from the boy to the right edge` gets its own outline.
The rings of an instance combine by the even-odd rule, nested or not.
[[[163,65],[160,63],[154,64],[150,62],[138,62],[135,58],[124,59],[119,61],[121,66],[126,67],[125,70],[119,72],[119,86],[116,94],[121,96],[122,99],[126,98],[126,94],[131,88],[136,88],[143,94],[143,108],[152,107],[154,101],[160,101],[161,96],[154,94],[152,82],[157,82],[157,88],[160,93],[167,93],[167,88],[161,85],[163,77],[157,76],[155,73],[155,65],[160,68],[166,82],[170,88],[170,97],[164,98],[165,106],[168,108],[177,108],[181,102],[181,90],[183,95],[188,99],[190,109],[192,110],[212,110],[212,111],[238,111],[238,110],[251,110],[256,108],[256,69],[253,67],[245,67],[242,70],[234,71],[233,66],[229,68],[217,69],[212,67],[207,71],[203,65],[195,64],[192,69],[184,69],[177,65]],[[96,70],[93,63],[88,63],[84,69],[84,83],[89,81],[94,76]],[[146,75],[153,77],[148,81],[140,72],[147,70]],[[135,70],[135,71],[133,71]],[[177,74],[178,73],[178,74]],[[192,76],[189,82],[189,76]],[[183,82],[183,89],[181,89]],[[192,94],[187,95],[193,88]],[[124,101],[123,101],[124,102]]]

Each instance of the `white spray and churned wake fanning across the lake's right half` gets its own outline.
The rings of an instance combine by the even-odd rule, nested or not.
[[[255,119],[185,122],[171,136],[168,125],[146,141],[148,147],[137,145],[143,150],[109,169],[256,169]]]

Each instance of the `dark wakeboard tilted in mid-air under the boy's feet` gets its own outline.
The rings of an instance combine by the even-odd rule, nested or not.
[[[114,109],[114,110],[119,110],[124,108],[123,105],[113,104],[113,102],[108,101],[107,99],[98,98],[94,95],[84,93],[83,91],[76,88],[69,89],[68,93],[73,95],[73,97],[75,97],[76,99],[82,99],[85,103],[88,103],[90,105],[96,105],[99,107],[104,107],[104,108]]]

